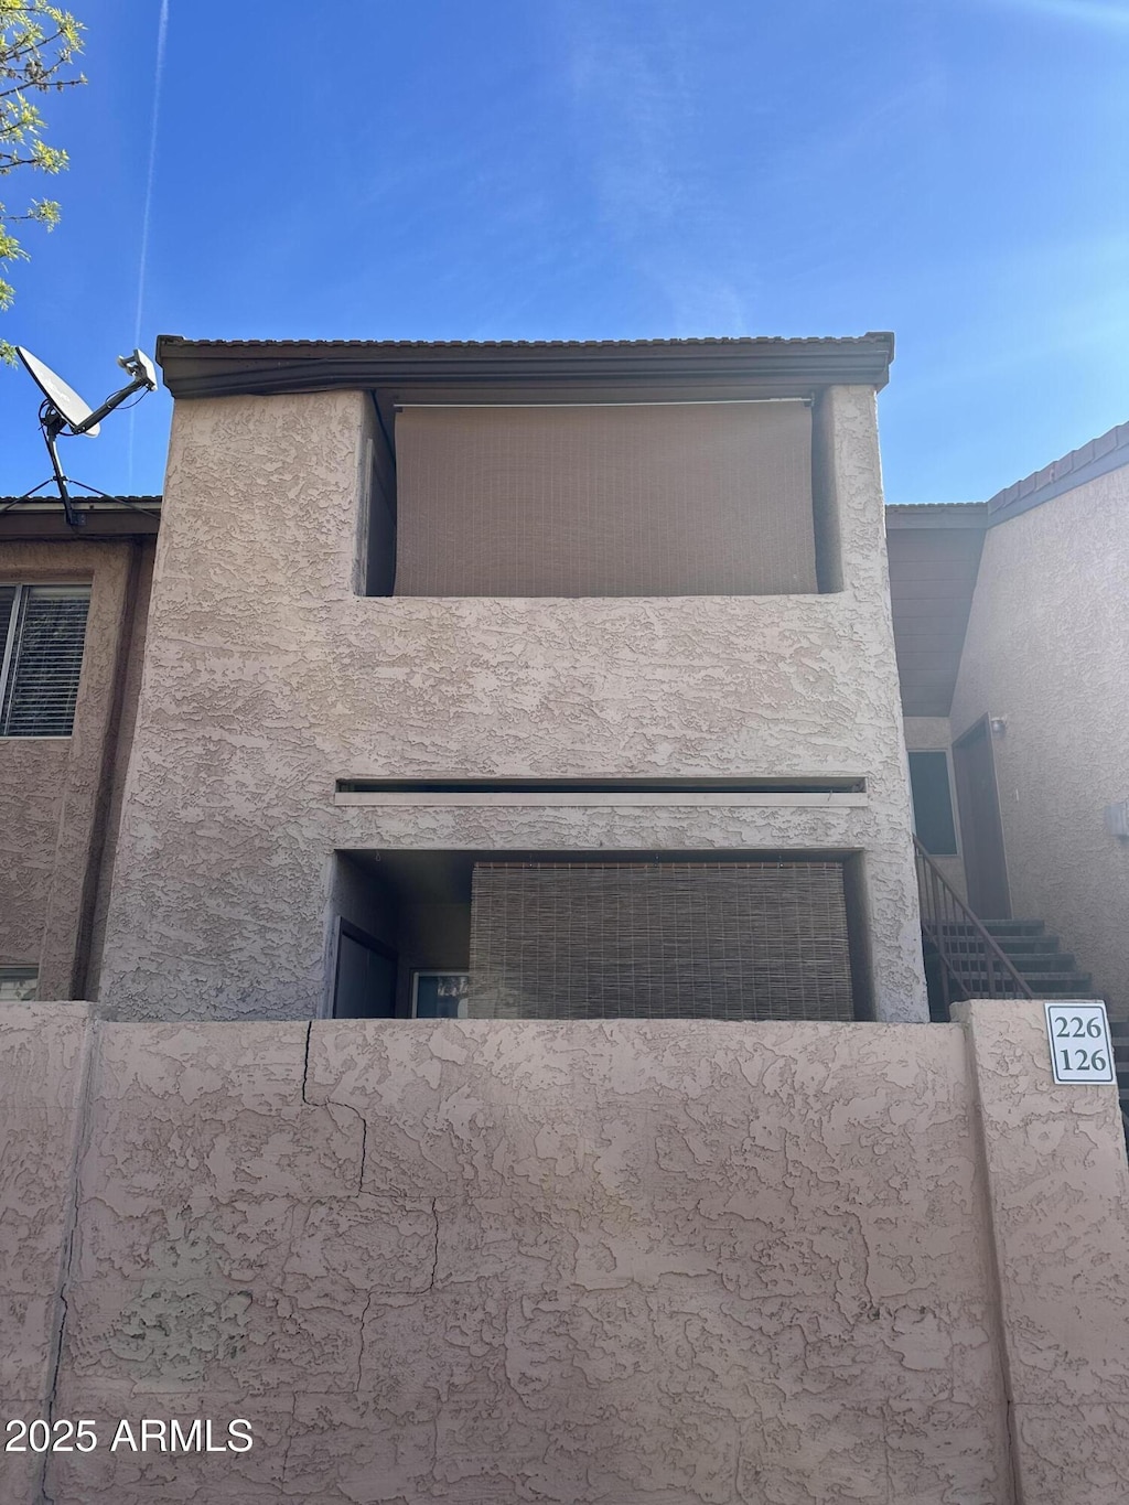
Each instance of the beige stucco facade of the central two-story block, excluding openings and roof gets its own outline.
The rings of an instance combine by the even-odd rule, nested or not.
[[[879,1013],[926,1016],[873,393],[834,390],[838,594],[352,593],[361,394],[181,400],[107,923],[123,1017],[325,1007],[339,849],[866,852]],[[355,777],[864,774],[857,810],[342,808]]]

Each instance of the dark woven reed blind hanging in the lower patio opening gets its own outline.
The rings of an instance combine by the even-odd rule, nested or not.
[[[471,1017],[854,1017],[838,862],[486,864]]]

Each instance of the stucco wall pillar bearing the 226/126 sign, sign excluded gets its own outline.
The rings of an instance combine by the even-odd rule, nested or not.
[[[1055,1087],[1042,1004],[966,1020],[1022,1505],[1121,1505],[1129,1163],[1112,1087]]]

